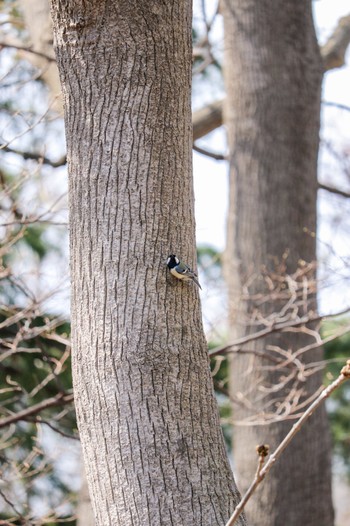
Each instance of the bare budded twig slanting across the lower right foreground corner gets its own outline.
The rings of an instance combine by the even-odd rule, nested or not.
[[[335,391],[342,383],[344,383],[346,380],[350,379],[350,360],[346,362],[346,365],[342,368],[340,375],[334,382],[332,382],[328,387],[326,387],[321,394],[318,396],[318,398],[310,405],[310,407],[305,411],[305,413],[299,418],[299,420],[293,425],[292,429],[289,431],[289,433],[285,436],[285,438],[282,440],[280,445],[277,447],[277,449],[272,453],[270,458],[268,459],[267,463],[265,464],[265,467],[262,467],[264,462],[264,456],[266,451],[266,447],[264,446],[264,450],[261,449],[262,446],[259,446],[258,454],[259,454],[259,465],[258,469],[256,471],[255,477],[253,479],[253,482],[249,486],[248,490],[242,497],[242,500],[236,507],[234,513],[231,515],[230,519],[226,523],[226,526],[233,526],[242,511],[244,510],[247,502],[255,492],[256,488],[260,484],[260,482],[265,478],[265,476],[268,474],[272,466],[275,464],[276,460],[281,456],[283,451],[286,449],[286,447],[289,445],[291,440],[295,437],[295,435],[300,431],[303,424],[310,418],[312,413],[321,405],[321,403],[328,398],[333,391]],[[263,451],[261,453],[260,451]]]

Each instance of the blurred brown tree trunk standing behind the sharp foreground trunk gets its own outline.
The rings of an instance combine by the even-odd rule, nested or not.
[[[231,335],[239,337],[315,310],[314,267],[308,263],[315,260],[322,66],[311,2],[225,0],[223,14],[230,146],[226,273]],[[318,362],[319,349],[300,355],[295,373],[288,360],[279,369],[273,360],[312,342],[305,331],[274,334],[251,342],[232,359],[232,391],[240,401],[235,420],[251,424],[255,418],[260,424],[235,427],[242,489],[256,470],[256,444],[275,449],[293,423],[264,421],[274,413],[288,416],[298,397],[305,399],[322,382],[321,373],[308,377],[302,365]],[[330,526],[330,480],[322,408],[261,484],[247,509],[248,521]]]

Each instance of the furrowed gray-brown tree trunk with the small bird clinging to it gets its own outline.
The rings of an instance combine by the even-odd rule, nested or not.
[[[53,0],[70,178],[73,376],[96,522],[225,524],[239,498],[193,265],[191,2]],[[240,524],[244,524],[242,519]]]

